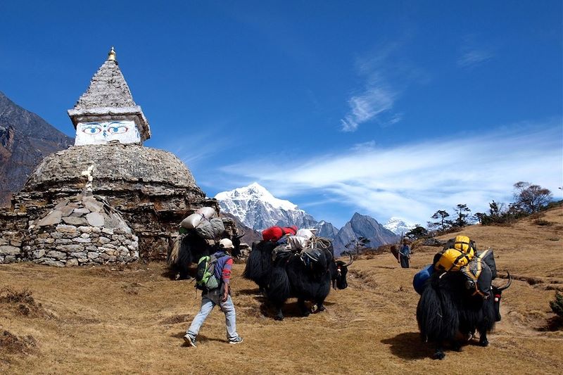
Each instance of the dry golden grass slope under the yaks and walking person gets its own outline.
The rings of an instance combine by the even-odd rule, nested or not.
[[[3,265],[0,372],[461,374],[476,371],[479,363],[486,373],[560,374],[563,332],[550,331],[549,301],[563,286],[563,210],[539,219],[552,224],[537,224],[536,217],[462,232],[479,248],[491,246],[500,272],[508,270],[516,280],[503,294],[503,319],[491,345],[467,345],[443,361],[431,360],[433,349],[419,340],[412,277],[436,252],[419,247],[410,269],[400,269],[391,254],[357,260],[349,288],[331,291],[327,311],[298,317],[290,300],[283,322],[272,319],[256,286],[240,277],[244,266],[234,265],[233,300],[244,342],[226,342],[224,315],[216,309],[201,329],[198,348],[186,347],[182,336],[200,298],[189,281],[167,279],[161,263]]]

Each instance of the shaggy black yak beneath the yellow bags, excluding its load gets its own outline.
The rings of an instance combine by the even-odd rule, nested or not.
[[[445,357],[443,345],[460,350],[460,337],[470,339],[475,331],[479,332],[479,345],[488,345],[487,332],[500,321],[500,298],[511,282],[508,274],[505,286],[491,286],[491,297],[482,298],[468,290],[462,272],[434,272],[417,306],[421,338],[436,344],[434,359]]]

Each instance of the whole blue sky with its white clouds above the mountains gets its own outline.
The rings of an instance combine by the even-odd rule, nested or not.
[[[527,181],[562,198],[561,1],[2,1],[0,91],[70,136],[115,46],[208,196],[426,224]]]

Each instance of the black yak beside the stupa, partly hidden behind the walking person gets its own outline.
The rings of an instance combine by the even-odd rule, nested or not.
[[[240,253],[241,237],[229,236],[227,231],[224,231],[220,236],[221,239],[230,239],[233,242],[234,249],[232,250],[233,257]],[[219,241],[217,241],[217,244]],[[172,247],[168,251],[167,263],[170,272],[174,278],[189,279],[189,267],[198,262],[199,258],[204,255],[210,255],[219,250],[217,245],[210,245],[207,240],[203,239],[194,229],[188,229],[186,234],[179,234],[176,237]]]

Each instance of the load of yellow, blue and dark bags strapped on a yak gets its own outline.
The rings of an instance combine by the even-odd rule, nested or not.
[[[493,279],[497,276],[493,250],[479,252],[475,242],[467,236],[456,236],[448,240],[443,250],[434,255],[432,265],[424,267],[415,275],[412,284],[422,295],[426,280],[434,272],[461,272],[465,279],[465,286],[472,295],[488,298]]]

